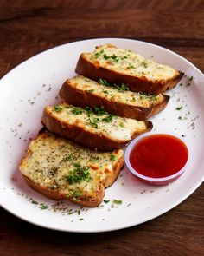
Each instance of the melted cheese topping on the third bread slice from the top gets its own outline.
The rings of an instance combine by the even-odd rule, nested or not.
[[[55,106],[47,106],[46,112],[54,118],[67,124],[74,124],[86,131],[94,134],[105,135],[113,140],[130,141],[134,132],[143,133],[146,131],[144,121],[137,121],[131,118],[123,118],[116,115],[104,114],[96,115],[88,113],[84,108],[73,107],[66,103],[57,105],[60,111],[56,111]],[[80,109],[80,114],[75,109]]]

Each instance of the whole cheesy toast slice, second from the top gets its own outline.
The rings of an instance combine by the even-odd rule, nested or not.
[[[131,92],[124,84],[109,84],[100,79],[95,82],[78,75],[68,79],[61,87],[61,98],[80,107],[101,107],[113,115],[145,120],[163,110],[169,102],[168,95],[147,95]]]

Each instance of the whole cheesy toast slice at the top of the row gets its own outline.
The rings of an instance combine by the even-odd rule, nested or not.
[[[159,94],[175,87],[183,73],[167,65],[147,60],[129,49],[105,44],[92,53],[82,53],[76,73],[95,81],[124,83],[132,91]]]

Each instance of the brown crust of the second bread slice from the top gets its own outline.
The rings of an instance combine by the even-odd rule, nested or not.
[[[163,95],[162,102],[157,104],[153,102],[149,108],[137,107],[123,102],[114,102],[94,95],[91,92],[76,89],[69,80],[64,82],[59,95],[65,102],[74,106],[90,106],[92,108],[103,106],[107,112],[113,115],[137,119],[139,121],[145,120],[162,111],[167,106],[170,98],[169,95]]]

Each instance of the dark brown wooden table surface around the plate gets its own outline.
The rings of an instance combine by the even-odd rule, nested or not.
[[[62,43],[126,37],[162,45],[204,70],[204,1],[0,0],[0,77]],[[110,233],[61,233],[0,208],[0,254],[204,255],[204,185],[181,205]]]

